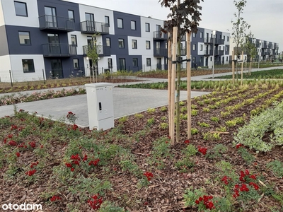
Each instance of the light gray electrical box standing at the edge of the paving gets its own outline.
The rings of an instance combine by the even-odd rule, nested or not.
[[[85,86],[89,129],[106,130],[114,127],[112,83],[91,83]]]

